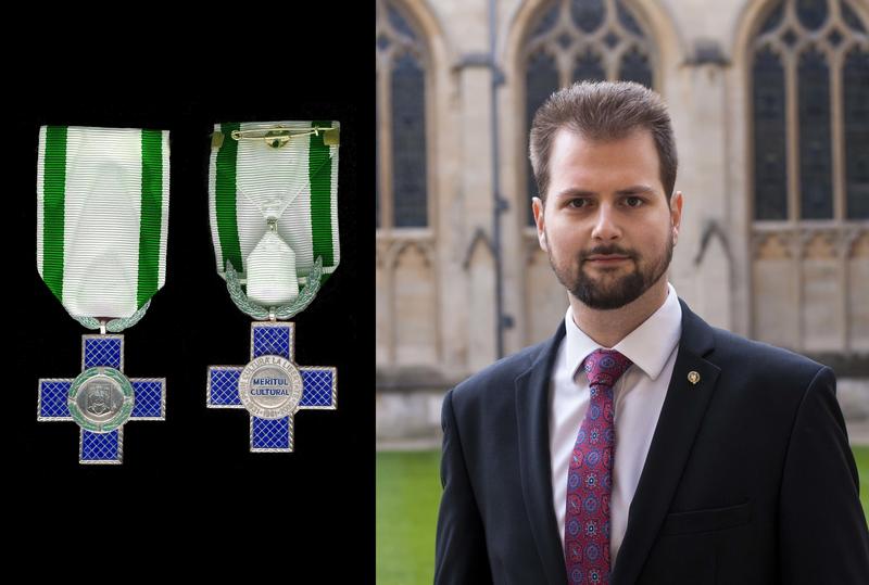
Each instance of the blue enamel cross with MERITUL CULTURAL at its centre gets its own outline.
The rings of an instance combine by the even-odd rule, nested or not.
[[[254,453],[289,453],[293,450],[293,416],[299,410],[335,410],[337,407],[338,386],[337,371],[331,367],[295,366],[293,363],[293,346],[295,342],[295,326],[291,322],[253,322],[251,323],[251,364],[245,369],[243,366],[211,366],[209,367],[207,406],[209,408],[245,408],[250,412],[250,447]],[[288,398],[291,411],[279,418],[263,418],[256,416],[251,408],[245,406],[242,398],[244,371],[249,370],[255,361],[265,356],[275,356],[275,361],[289,360],[290,373],[300,376],[298,404],[292,406]],[[272,359],[270,357],[268,359]],[[265,361],[268,361],[265,360]],[[263,383],[268,386],[275,384],[289,384],[281,370],[261,366],[257,371],[277,372],[277,378],[261,376],[254,378],[254,384]],[[286,371],[286,370],[285,370]],[[298,378],[297,378],[298,380]],[[265,387],[264,386],[264,387]],[[267,389],[274,394],[286,393],[278,386],[276,390]],[[260,393],[265,393],[262,387]]]

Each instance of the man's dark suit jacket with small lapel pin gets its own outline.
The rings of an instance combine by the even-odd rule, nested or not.
[[[564,334],[562,326],[444,398],[436,583],[567,583],[547,416]],[[714,329],[682,303],[676,366],[612,583],[869,584],[833,372]]]

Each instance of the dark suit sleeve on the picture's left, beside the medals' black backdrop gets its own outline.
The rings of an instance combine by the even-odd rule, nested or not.
[[[434,583],[436,585],[491,583],[486,533],[468,478],[453,414],[453,391],[450,391],[443,399],[441,425],[443,495],[438,516]]]

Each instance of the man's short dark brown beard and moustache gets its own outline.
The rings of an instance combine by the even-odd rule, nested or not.
[[[550,266],[558,278],[558,282],[570,294],[582,302],[583,305],[599,310],[612,310],[637,301],[660,277],[665,275],[672,259],[672,238],[667,239],[664,254],[650,262],[644,262],[642,255],[617,245],[599,245],[587,252],[581,252],[577,258],[578,269],[571,274],[569,268],[559,267],[553,260],[552,252],[547,252]],[[618,254],[627,256],[633,264],[633,270],[624,276],[618,276],[622,267],[606,268],[603,275],[592,276],[585,272],[584,265],[590,256],[597,254]]]

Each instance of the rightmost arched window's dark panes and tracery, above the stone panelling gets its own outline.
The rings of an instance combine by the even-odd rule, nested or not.
[[[780,0],[752,44],[754,219],[869,218],[869,37],[847,0]]]

